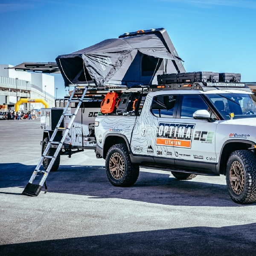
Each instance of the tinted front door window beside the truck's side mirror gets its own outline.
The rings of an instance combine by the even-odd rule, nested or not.
[[[181,118],[193,118],[193,113],[197,110],[205,109],[208,107],[203,99],[198,95],[184,95],[181,105]]]

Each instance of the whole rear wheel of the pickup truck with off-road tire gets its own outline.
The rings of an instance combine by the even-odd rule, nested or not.
[[[117,161],[118,159],[119,161]],[[113,166],[114,162],[116,162],[116,169]],[[113,186],[132,186],[139,177],[140,167],[131,163],[129,151],[125,144],[113,145],[108,150],[105,165],[108,180]]]

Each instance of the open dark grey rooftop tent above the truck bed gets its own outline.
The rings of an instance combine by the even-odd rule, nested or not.
[[[157,84],[158,74],[185,72],[181,61],[165,29],[125,33],[56,58],[65,86]]]

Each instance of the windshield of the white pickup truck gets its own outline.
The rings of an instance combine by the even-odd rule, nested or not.
[[[206,94],[224,119],[256,117],[256,96],[245,93]]]

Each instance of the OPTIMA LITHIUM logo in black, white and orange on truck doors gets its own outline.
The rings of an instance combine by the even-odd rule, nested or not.
[[[162,123],[157,128],[157,145],[191,148],[194,124]]]

